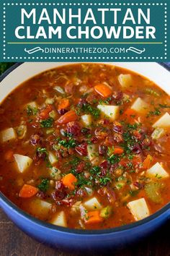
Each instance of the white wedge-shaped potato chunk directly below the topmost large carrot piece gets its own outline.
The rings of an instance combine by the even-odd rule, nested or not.
[[[115,121],[119,117],[120,114],[120,108],[119,106],[112,106],[112,105],[98,105],[97,108],[104,114],[104,116],[107,116],[110,121]]]

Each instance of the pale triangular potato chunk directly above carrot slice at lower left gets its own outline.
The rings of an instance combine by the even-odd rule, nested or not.
[[[32,164],[32,158],[29,158],[27,155],[14,154],[14,160],[17,163],[18,171],[21,173],[26,171]]]

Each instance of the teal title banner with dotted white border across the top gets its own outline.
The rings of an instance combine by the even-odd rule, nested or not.
[[[0,2],[1,61],[170,61],[170,1]]]

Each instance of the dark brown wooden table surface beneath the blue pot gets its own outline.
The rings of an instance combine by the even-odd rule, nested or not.
[[[158,229],[154,234],[138,244],[132,245],[118,252],[107,253],[115,256],[169,256],[170,222]],[[40,244],[20,231],[0,209],[0,256],[78,256],[79,252],[71,254],[59,249],[52,249]],[[100,256],[99,253],[91,255]],[[89,254],[88,254],[89,256]]]

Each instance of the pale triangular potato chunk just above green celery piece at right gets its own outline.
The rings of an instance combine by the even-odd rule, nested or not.
[[[169,174],[164,170],[160,163],[156,163],[149,168],[148,171],[146,171],[146,175],[157,179],[165,179],[169,177]]]

